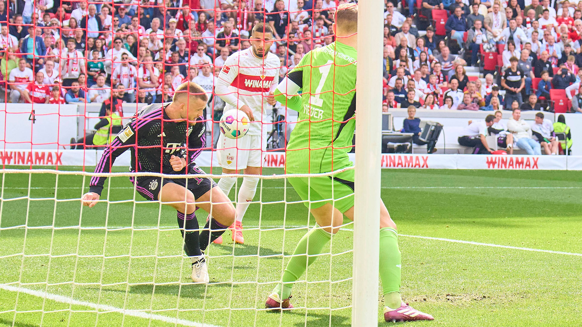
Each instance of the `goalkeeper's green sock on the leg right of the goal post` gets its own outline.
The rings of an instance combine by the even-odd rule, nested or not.
[[[380,229],[380,279],[384,302],[389,308],[396,309],[402,304],[400,297],[400,250],[396,229]]]

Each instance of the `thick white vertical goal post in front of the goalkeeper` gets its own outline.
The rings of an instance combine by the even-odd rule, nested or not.
[[[383,6],[358,4],[352,326],[361,327],[378,326]]]

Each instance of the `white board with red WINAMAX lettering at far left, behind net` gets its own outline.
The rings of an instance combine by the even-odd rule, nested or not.
[[[2,165],[94,166],[95,150],[6,150],[0,152]]]

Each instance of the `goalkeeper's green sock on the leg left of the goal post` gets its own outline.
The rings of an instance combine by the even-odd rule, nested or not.
[[[273,293],[279,294],[282,300],[285,300],[291,295],[291,287],[293,283],[299,279],[301,275],[306,271],[307,266],[313,264],[317,257],[312,257],[321,253],[322,248],[325,244],[331,240],[331,233],[326,232],[321,229],[319,225],[315,225],[314,228],[310,229],[307,234],[301,238],[295,251],[293,251],[293,257],[287,263],[285,272],[283,272],[282,283],[279,283]],[[301,255],[303,254],[303,255]],[[306,255],[308,257],[306,257]]]

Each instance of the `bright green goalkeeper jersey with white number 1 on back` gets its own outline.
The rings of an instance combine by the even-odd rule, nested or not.
[[[352,165],[347,152],[356,126],[356,59],[355,48],[332,42],[303,56],[277,87],[275,98],[299,111],[287,145],[287,172],[322,173]]]

